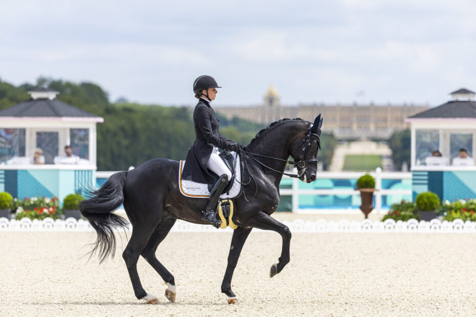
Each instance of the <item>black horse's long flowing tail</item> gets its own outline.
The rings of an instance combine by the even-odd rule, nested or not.
[[[89,220],[91,227],[96,230],[97,239],[93,243],[91,258],[96,252],[99,263],[110,254],[114,257],[116,251],[115,228],[127,228],[128,222],[124,218],[112,213],[124,201],[124,183],[127,172],[117,172],[99,189],[89,192],[89,198],[79,203],[81,214]]]

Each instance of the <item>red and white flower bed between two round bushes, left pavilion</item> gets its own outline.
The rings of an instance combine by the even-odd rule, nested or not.
[[[57,197],[25,197],[24,199],[14,199],[15,219],[53,219],[61,218],[59,200]]]

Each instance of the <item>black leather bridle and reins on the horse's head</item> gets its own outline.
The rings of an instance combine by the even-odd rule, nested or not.
[[[316,129],[316,131],[317,131],[317,129]],[[288,161],[288,160],[278,159],[278,157],[261,155],[261,154],[257,154],[257,153],[251,153],[251,152],[248,152],[245,149],[243,149],[242,153],[245,154],[245,155],[248,155],[249,157],[251,157],[251,159],[253,161],[258,163],[259,165],[262,165],[263,167],[266,167],[269,170],[272,170],[274,172],[278,172],[280,174],[287,175],[287,176],[290,176],[290,177],[299,178],[306,172],[306,170],[308,169],[309,164],[318,164],[319,163],[319,160],[309,159],[309,157],[308,157],[309,156],[309,149],[311,148],[311,140],[312,139],[317,141],[317,146],[320,149],[319,134],[314,132],[313,125],[309,122],[307,130],[306,130],[306,138],[301,140],[301,142],[299,142],[299,144],[296,146],[296,148],[294,150],[292,150],[292,152],[291,152],[291,156],[293,156],[293,154],[302,146],[302,144],[304,144],[304,148],[302,149],[302,156],[299,159],[299,161],[297,161],[297,162],[296,162],[296,160]],[[269,167],[269,166],[263,164],[262,162],[259,162],[258,160],[255,159],[254,156],[266,157],[267,159],[273,159],[273,160],[276,160],[276,161],[286,162],[286,164],[292,164],[297,168],[298,173],[297,174],[290,174],[290,173],[285,173],[285,172],[275,170],[272,167]]]

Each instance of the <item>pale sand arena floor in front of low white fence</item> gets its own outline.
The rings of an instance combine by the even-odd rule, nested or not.
[[[121,240],[122,238],[122,245]],[[134,296],[121,254],[99,265],[81,258],[95,233],[0,233],[0,315],[67,316],[382,316],[474,315],[474,234],[294,234],[291,262],[269,278],[279,257],[275,233],[252,233],[228,305],[220,285],[231,234],[171,233],[159,260],[175,275],[177,302],[142,258],[142,285],[159,305]]]

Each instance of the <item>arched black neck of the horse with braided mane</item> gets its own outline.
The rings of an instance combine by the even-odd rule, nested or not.
[[[287,124],[281,124],[278,127],[274,127],[272,130],[266,131],[266,134],[257,139],[248,149],[252,153],[272,156],[280,160],[287,160],[289,157],[289,147],[297,133],[298,129],[296,127],[293,128],[289,127]],[[283,161],[259,156],[255,156],[255,159],[279,172],[284,172],[286,168],[286,162]],[[267,174],[274,174],[278,183],[283,177],[283,174],[273,172],[258,163],[255,163],[254,165]]]

